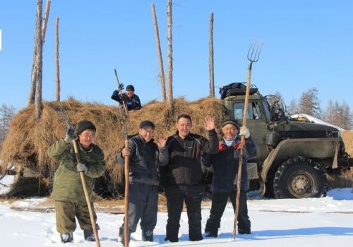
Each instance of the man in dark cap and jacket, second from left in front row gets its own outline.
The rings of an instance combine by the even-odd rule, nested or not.
[[[124,164],[124,157],[129,157],[129,193],[128,193],[128,241],[130,234],[136,231],[141,219],[143,241],[153,241],[153,229],[157,224],[157,187],[160,182],[158,166],[160,153],[165,152],[167,139],[161,138],[154,143],[152,137],[155,124],[142,121],[138,135],[130,138],[128,150],[123,148],[116,155],[116,162]],[[168,154],[163,155],[167,159]],[[125,245],[124,224],[119,229],[121,243]]]

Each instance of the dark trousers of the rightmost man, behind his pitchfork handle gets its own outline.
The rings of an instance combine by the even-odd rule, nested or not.
[[[232,201],[233,210],[235,212],[235,198],[237,198],[237,191],[213,193],[210,217],[207,220],[205,232],[210,232],[217,235],[218,228],[220,228],[220,220],[222,218],[223,212],[225,212],[228,198],[230,198]],[[248,216],[248,205],[246,205],[246,201],[246,191],[240,191],[238,229],[244,231],[251,229],[251,222]]]

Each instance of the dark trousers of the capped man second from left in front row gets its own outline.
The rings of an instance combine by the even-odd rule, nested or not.
[[[157,186],[130,183],[128,186],[128,231],[135,232],[140,219],[143,231],[153,231],[157,224],[157,205]],[[120,228],[124,232],[124,224]]]

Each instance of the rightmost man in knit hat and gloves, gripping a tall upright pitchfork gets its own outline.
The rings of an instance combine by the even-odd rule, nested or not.
[[[251,140],[249,129],[239,125],[236,121],[228,120],[222,125],[224,137],[218,145],[219,152],[215,155],[203,155],[202,163],[205,166],[213,165],[212,181],[212,206],[210,217],[206,223],[205,236],[217,237],[220,228],[220,219],[225,211],[227,200],[232,201],[235,211],[235,198],[237,195],[237,179],[239,167],[239,155],[241,141],[239,136],[244,135],[245,145],[243,152],[243,167],[241,167],[241,191],[239,200],[238,232],[239,234],[251,234],[251,222],[246,205],[246,191],[249,189],[247,159],[256,155],[256,147]],[[239,133],[239,135],[238,135]]]

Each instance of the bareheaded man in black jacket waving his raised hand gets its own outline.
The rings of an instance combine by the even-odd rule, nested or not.
[[[177,119],[177,133],[167,139],[169,162],[165,167],[165,195],[167,196],[167,234],[165,241],[177,242],[179,221],[184,201],[189,218],[189,239],[203,239],[201,233],[201,151],[217,152],[217,133],[213,117],[205,117],[205,129],[210,140],[190,133],[191,116],[181,114]],[[165,159],[164,159],[165,160]]]

